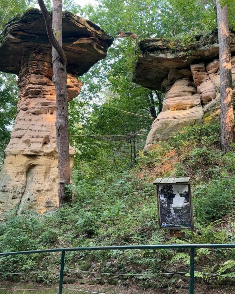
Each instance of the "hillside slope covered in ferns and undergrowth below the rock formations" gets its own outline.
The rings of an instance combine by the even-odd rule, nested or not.
[[[9,213],[0,226],[1,251],[74,246],[133,245],[160,243],[234,243],[235,153],[220,151],[219,113],[204,118],[204,125],[190,126],[169,143],[159,142],[140,156],[130,173],[106,171],[100,178],[85,175],[70,185],[73,204],[39,217],[27,211]],[[76,174],[76,173],[75,173]],[[195,231],[184,240],[170,239],[158,228],[157,199],[153,181],[157,177],[190,176],[192,180]],[[197,250],[196,270],[235,275],[234,250]],[[229,265],[223,266],[226,260]],[[60,254],[0,258],[0,272],[55,270],[23,275],[23,280],[58,281]],[[162,249],[66,253],[65,283],[138,284],[147,288],[187,288],[182,275],[151,276],[151,273],[188,271],[187,250]],[[74,272],[125,273],[105,278]],[[130,274],[142,274],[133,275]],[[232,278],[197,273],[198,282],[232,283]],[[18,280],[17,275],[1,274]],[[112,279],[109,279],[112,277]],[[108,278],[108,280],[107,280]],[[22,279],[22,276],[21,276]],[[22,280],[21,280],[22,281]],[[49,282],[48,282],[49,281]],[[204,283],[203,282],[203,283]]]

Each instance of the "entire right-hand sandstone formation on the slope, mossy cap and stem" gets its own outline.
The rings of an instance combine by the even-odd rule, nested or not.
[[[167,39],[147,39],[137,44],[133,81],[165,92],[162,112],[152,124],[145,148],[167,140],[187,125],[203,123],[204,112],[219,106],[219,45],[216,32],[198,36],[187,50],[171,49]],[[235,33],[230,34],[232,81],[235,93]]]

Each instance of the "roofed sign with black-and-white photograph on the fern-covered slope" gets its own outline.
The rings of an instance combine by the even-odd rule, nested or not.
[[[190,178],[157,178],[159,227],[194,229]]]

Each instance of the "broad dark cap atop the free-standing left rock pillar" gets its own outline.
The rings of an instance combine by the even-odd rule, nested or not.
[[[19,61],[28,49],[51,47],[39,9],[29,9],[9,21],[0,40],[0,71],[11,74],[18,73]],[[81,76],[105,58],[113,37],[91,21],[64,12],[62,43],[67,57],[67,72]]]

